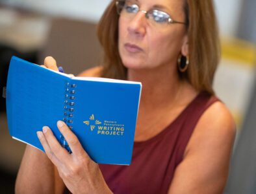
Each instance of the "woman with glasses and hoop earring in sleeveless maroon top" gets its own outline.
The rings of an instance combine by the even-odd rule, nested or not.
[[[17,193],[222,193],[235,124],[212,90],[219,60],[212,1],[112,1],[98,36],[104,64],[81,76],[143,85],[131,166],[96,164],[58,122],[73,154],[43,127],[47,156],[27,146]],[[51,57],[44,66],[58,70]]]

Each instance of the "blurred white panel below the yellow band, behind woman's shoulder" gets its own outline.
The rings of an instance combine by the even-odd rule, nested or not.
[[[214,90],[242,124],[250,103],[254,79],[253,67],[232,59],[222,59],[214,78]]]

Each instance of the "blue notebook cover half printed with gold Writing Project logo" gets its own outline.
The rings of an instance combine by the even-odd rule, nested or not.
[[[73,80],[73,131],[98,163],[130,164],[140,85]]]

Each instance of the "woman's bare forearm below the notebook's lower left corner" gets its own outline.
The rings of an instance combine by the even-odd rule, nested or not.
[[[27,146],[16,179],[15,193],[62,193],[64,183],[45,153]]]

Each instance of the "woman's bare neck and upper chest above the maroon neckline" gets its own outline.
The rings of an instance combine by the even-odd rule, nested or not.
[[[144,141],[155,136],[172,122],[196,96],[186,81],[181,81],[175,70],[129,69],[128,80],[142,82],[140,109],[135,140]]]

